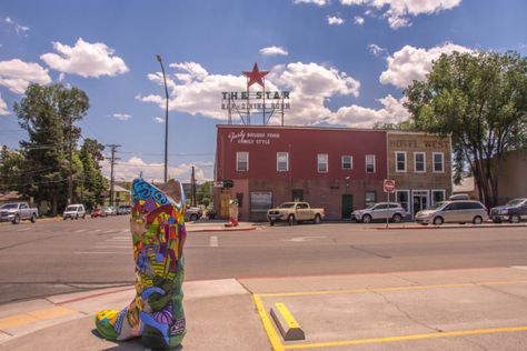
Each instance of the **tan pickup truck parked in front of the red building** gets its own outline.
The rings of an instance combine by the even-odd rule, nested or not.
[[[269,224],[284,221],[289,225],[301,223],[304,221],[314,221],[316,224],[324,219],[324,209],[311,209],[307,202],[284,202],[276,209],[267,211],[267,220]]]

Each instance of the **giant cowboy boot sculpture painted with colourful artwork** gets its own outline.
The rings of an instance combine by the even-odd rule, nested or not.
[[[97,314],[107,340],[141,337],[156,350],[173,349],[186,333],[183,292],[185,194],[180,182],[156,187],[142,179],[131,190],[130,230],[136,261],[136,298],[122,310]]]

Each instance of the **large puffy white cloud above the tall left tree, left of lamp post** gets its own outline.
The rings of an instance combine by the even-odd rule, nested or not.
[[[116,76],[128,72],[125,61],[115,56],[115,50],[102,42],[89,43],[82,38],[74,47],[53,42],[57,53],[44,53],[40,58],[50,68],[81,77]]]

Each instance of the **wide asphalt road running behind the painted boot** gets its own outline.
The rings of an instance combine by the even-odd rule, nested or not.
[[[377,225],[378,227],[378,225]],[[0,224],[0,303],[133,282],[126,217]],[[190,232],[186,280],[527,265],[527,228]]]

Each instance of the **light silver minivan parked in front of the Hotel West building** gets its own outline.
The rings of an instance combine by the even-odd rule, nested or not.
[[[474,223],[481,224],[488,220],[488,210],[479,201],[456,200],[438,202],[435,205],[419,211],[416,214],[416,222],[421,224],[434,223]]]

